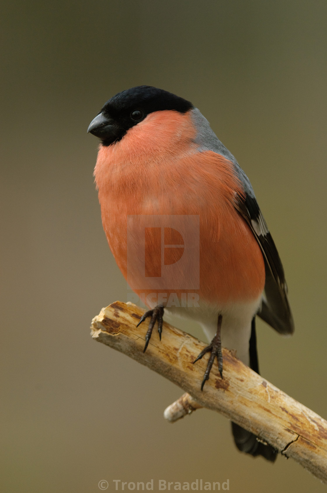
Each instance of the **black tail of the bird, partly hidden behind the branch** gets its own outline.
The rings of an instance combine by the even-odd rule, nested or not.
[[[256,336],[256,317],[253,317],[251,324],[251,337],[249,342],[250,367],[259,373],[257,336]],[[231,423],[231,430],[234,442],[238,450],[251,454],[253,457],[262,456],[271,462],[275,462],[278,451],[271,445],[264,445],[257,440],[256,435],[247,431],[236,423]]]

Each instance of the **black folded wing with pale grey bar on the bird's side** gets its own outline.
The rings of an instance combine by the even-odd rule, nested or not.
[[[237,211],[250,226],[259,243],[265,265],[265,285],[259,317],[280,334],[293,334],[294,320],[287,295],[284,269],[256,198],[245,193],[237,197]]]

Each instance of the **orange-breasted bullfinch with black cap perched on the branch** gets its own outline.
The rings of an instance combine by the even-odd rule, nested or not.
[[[284,269],[249,178],[191,102],[153,86],[111,97],[88,133],[100,139],[94,176],[115,260],[149,310],[146,351],[163,315],[196,320],[210,353],[222,345],[259,373],[256,316],[294,332]],[[143,298],[142,298],[143,297]],[[195,362],[194,361],[194,362]],[[232,423],[236,447],[274,462],[277,451]]]

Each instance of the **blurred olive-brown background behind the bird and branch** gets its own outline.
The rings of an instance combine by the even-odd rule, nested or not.
[[[252,181],[289,284],[295,334],[258,323],[262,375],[326,418],[326,21],[318,0],[2,3],[1,492],[152,478],[325,491],[293,460],[240,454],[216,413],[166,423],[181,390],[90,338],[92,317],[128,289],[86,130],[140,84],[207,117]]]

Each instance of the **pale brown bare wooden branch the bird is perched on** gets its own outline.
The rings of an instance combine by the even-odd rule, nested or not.
[[[162,341],[156,327],[143,353],[147,324],[136,327],[144,310],[120,301],[103,308],[92,321],[98,342],[123,352],[181,387],[184,394],[165,410],[176,421],[206,407],[252,431],[281,454],[292,457],[327,484],[327,422],[252,371],[223,348],[224,373],[215,362],[201,392],[207,357],[193,364],[205,344],[167,323]]]

